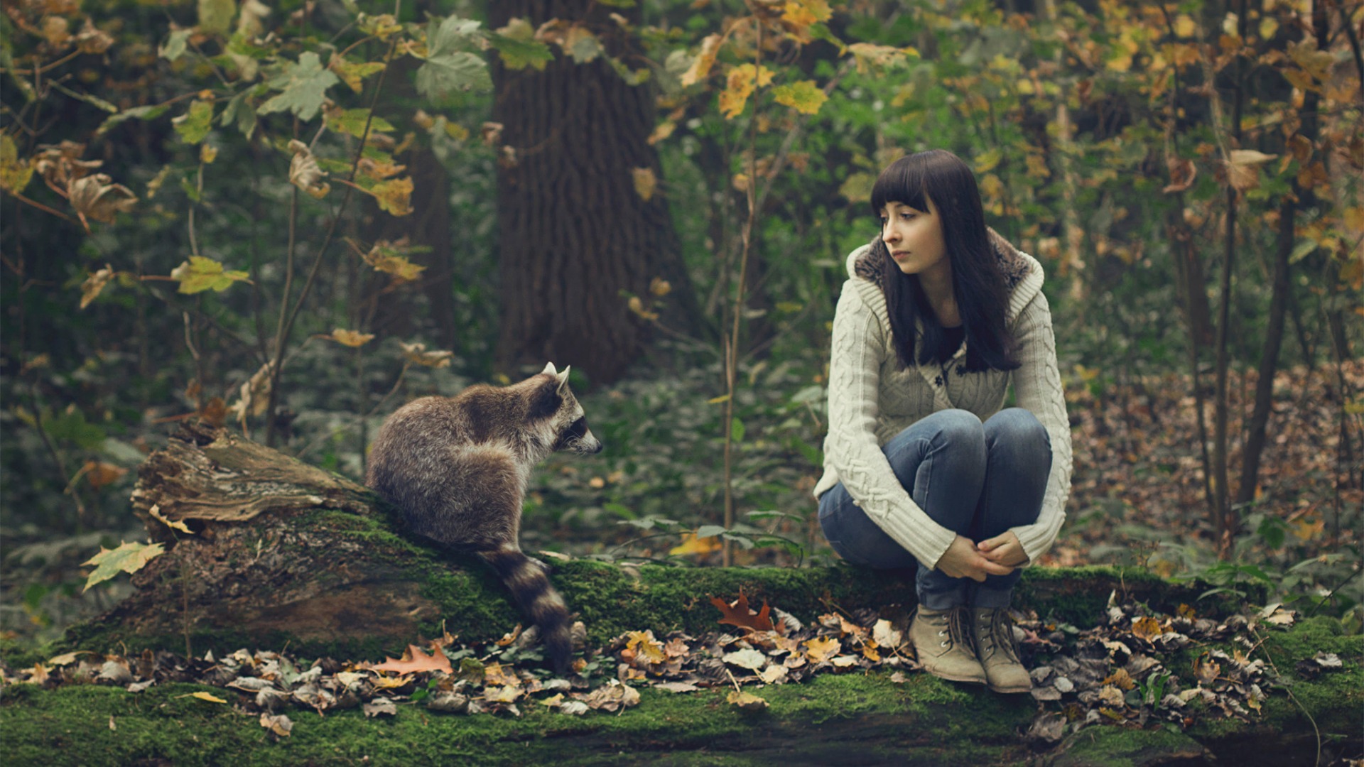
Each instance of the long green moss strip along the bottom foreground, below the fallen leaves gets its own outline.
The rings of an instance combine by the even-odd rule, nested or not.
[[[936,696],[936,680],[928,686]],[[522,704],[524,717],[431,714],[401,706],[394,718],[359,711],[319,717],[291,710],[292,736],[270,742],[256,717],[190,697],[198,691],[233,700],[237,693],[196,685],[158,685],[132,695],[117,688],[70,685],[41,691],[12,685],[0,695],[0,744],[16,764],[610,764],[648,759],[666,764],[772,763],[792,749],[818,760],[847,748],[917,762],[997,763],[1016,755],[1013,729],[1033,704],[985,691],[960,692],[955,706],[922,701],[915,685],[883,674],[825,676],[810,684],[758,691],[771,708],[746,714],[727,689],[671,695],[642,691],[621,715],[576,718]],[[963,717],[963,711],[986,717]],[[113,729],[110,729],[110,721]],[[858,741],[858,745],[850,742]],[[648,756],[644,756],[648,753]]]

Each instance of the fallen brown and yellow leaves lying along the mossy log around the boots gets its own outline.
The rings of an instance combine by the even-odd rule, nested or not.
[[[520,717],[522,707],[532,706],[581,717],[637,706],[642,688],[677,695],[732,688],[727,701],[757,712],[768,701],[756,691],[768,685],[877,670],[900,684],[921,670],[907,639],[910,614],[896,605],[880,613],[848,613],[829,605],[829,613],[802,625],[765,602],[754,610],[743,594],[734,602],[711,600],[720,610],[716,625],[723,631],[698,636],[626,632],[585,652],[565,677],[540,667],[533,629],[490,643],[460,643],[445,633],[379,663],[304,661],[271,651],[187,658],[147,650],[128,656],[67,652],[25,669],[0,661],[0,676],[7,685],[101,684],[134,693],[164,682],[205,684],[221,688],[222,697],[207,692],[186,697],[231,703],[280,740],[291,737],[295,726],[291,710],[325,717],[360,708],[376,718],[423,707],[453,715]],[[1185,605],[1163,616],[1121,602],[1116,592],[1105,622],[1090,629],[1045,622],[1034,613],[1013,610],[1011,616],[1038,704],[1022,738],[1039,747],[1094,725],[1187,727],[1206,717],[1249,721],[1270,691],[1284,686],[1275,669],[1256,656],[1263,632],[1282,631],[1297,620],[1296,611],[1278,605],[1225,620],[1199,617]],[[1339,656],[1326,652],[1293,662],[1304,678],[1344,667]]]

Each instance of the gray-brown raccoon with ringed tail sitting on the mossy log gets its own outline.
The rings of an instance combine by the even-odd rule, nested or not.
[[[412,532],[481,555],[562,671],[572,651],[569,609],[544,565],[518,543],[531,469],[555,450],[599,453],[602,442],[569,390],[569,368],[550,363],[520,384],[402,405],[374,441],[364,483],[402,509]]]

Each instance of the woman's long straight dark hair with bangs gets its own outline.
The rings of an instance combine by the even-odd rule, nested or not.
[[[872,187],[872,210],[880,216],[887,203],[899,202],[928,212],[928,198],[937,206],[943,239],[952,263],[952,292],[966,330],[966,370],[1015,370],[1013,338],[1005,325],[1009,289],[985,228],[985,210],[975,175],[966,162],[943,149],[919,151],[887,165]],[[872,240],[872,254],[881,269],[881,289],[891,315],[900,367],[913,367],[914,321],[923,328],[919,363],[947,359],[947,336],[929,306],[917,274],[906,274],[891,258],[881,235]]]

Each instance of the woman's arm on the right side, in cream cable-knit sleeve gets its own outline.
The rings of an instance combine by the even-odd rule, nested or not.
[[[1042,510],[1035,523],[1009,528],[1027,560],[1037,562],[1056,540],[1071,494],[1071,420],[1065,415],[1065,389],[1056,363],[1052,310],[1041,291],[1019,313],[1013,337],[1022,363],[1013,371],[1015,401],[1035,415],[1052,438],[1052,472],[1046,478]]]

